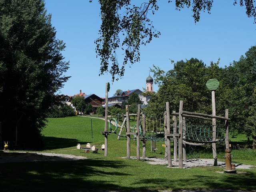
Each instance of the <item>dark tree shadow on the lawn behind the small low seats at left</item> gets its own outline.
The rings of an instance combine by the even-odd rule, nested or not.
[[[80,144],[88,143],[88,142],[80,142],[79,140],[76,140],[76,139],[47,137],[47,136],[43,136],[43,139],[45,144],[44,150],[68,148],[68,147],[74,147],[78,143]]]

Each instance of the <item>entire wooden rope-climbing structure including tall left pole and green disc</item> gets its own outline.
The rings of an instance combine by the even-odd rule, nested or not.
[[[225,148],[229,149],[229,136],[228,136],[228,121],[230,118],[228,118],[228,109],[225,111],[225,117],[216,116],[215,111],[215,94],[214,90],[218,87],[218,82],[216,84],[216,80],[214,80],[215,84],[212,84],[212,80],[209,80],[207,82],[206,86],[209,87],[212,91],[212,115],[208,114],[201,114],[201,113],[195,113],[195,112],[187,112],[183,110],[183,101],[180,101],[179,106],[179,112],[172,112],[170,114],[169,109],[169,102],[166,102],[166,111],[164,112],[164,138],[162,140],[165,141],[165,159],[168,160],[168,166],[172,166],[172,156],[171,156],[171,148],[170,148],[170,141],[174,140],[174,161],[177,160],[177,147],[178,147],[178,162],[179,162],[179,168],[183,168],[183,161],[187,162],[186,158],[186,144],[189,145],[205,145],[208,143],[212,144],[212,151],[213,151],[213,158],[214,158],[214,166],[218,165],[217,162],[217,152],[216,152],[216,142],[219,142],[220,140],[225,139]],[[108,84],[108,83],[107,83]],[[105,109],[105,129],[104,132],[102,132],[103,135],[105,135],[105,156],[107,156],[107,136],[114,132],[117,134],[117,122],[116,122],[116,129],[107,131],[107,122],[108,122],[108,85],[106,84],[106,109]],[[120,131],[118,132],[118,137],[120,137],[120,134],[122,132],[122,129],[124,127],[124,124],[126,122],[126,135],[127,135],[127,158],[130,158],[130,140],[131,135],[134,135],[137,141],[137,160],[140,160],[140,141],[142,141],[142,158],[146,158],[146,141],[147,140],[155,140],[155,138],[146,137],[146,120],[145,120],[145,114],[142,113],[142,129],[140,128],[141,120],[141,104],[138,104],[138,112],[136,114],[137,121],[136,121],[136,132],[131,132],[130,130],[130,115],[129,114],[129,107],[126,105],[126,115],[124,115],[124,121],[122,123],[122,126],[120,128]],[[134,115],[134,114],[133,114]],[[170,115],[173,116],[174,125],[173,125],[173,131],[170,131]],[[178,125],[176,121],[176,116],[178,116]],[[186,126],[186,118],[197,118],[200,120],[206,120],[212,122],[211,126],[208,126],[208,131],[206,132],[206,128],[204,127],[204,131],[202,131],[201,126],[199,126],[199,130],[197,129],[197,126],[193,127],[192,125]],[[218,130],[216,129],[216,119],[224,120],[225,121],[225,130]],[[111,121],[110,121],[110,127],[111,127]],[[211,127],[211,129],[210,129]],[[134,129],[133,129],[134,130]],[[160,129],[161,130],[161,129]],[[178,132],[177,132],[178,130]],[[153,128],[154,132],[154,128]],[[160,131],[161,133],[161,131]],[[206,134],[208,133],[208,134]],[[225,136],[224,136],[225,134]],[[228,153],[230,154],[230,153]],[[183,158],[182,158],[183,157]],[[225,156],[227,158],[226,161],[226,170],[229,171],[231,165],[231,156]]]

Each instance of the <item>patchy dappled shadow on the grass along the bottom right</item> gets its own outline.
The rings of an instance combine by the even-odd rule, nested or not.
[[[218,176],[219,174],[219,176]],[[166,182],[163,179],[140,179],[137,184],[148,183],[152,186],[160,186],[160,190],[172,189],[216,189],[215,191],[229,191],[232,190],[255,190],[255,174],[253,172],[247,172],[246,174],[227,174],[223,173],[220,176],[218,173],[216,176],[202,176],[191,174],[190,178],[180,178],[172,175],[170,182]],[[200,190],[198,192],[203,192]]]

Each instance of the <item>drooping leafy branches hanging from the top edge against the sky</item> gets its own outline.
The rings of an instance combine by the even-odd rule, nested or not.
[[[158,1],[145,0],[141,3],[131,0],[99,0],[102,24],[100,37],[95,43],[97,56],[101,60],[100,74],[109,72],[112,81],[118,80],[124,75],[126,64],[140,61],[140,46],[160,35],[149,18],[150,13],[154,14],[158,10]],[[210,14],[212,3],[213,0],[175,0],[175,7],[176,10],[192,7],[192,16],[198,22],[201,12]],[[237,0],[233,0],[233,4],[236,5]],[[246,7],[247,16],[253,17],[255,22],[254,1],[239,0],[239,4]],[[117,50],[124,55],[122,64],[118,62]]]

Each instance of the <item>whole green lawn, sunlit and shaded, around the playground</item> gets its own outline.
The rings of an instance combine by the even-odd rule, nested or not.
[[[108,156],[104,156],[104,151],[94,154],[76,149],[77,143],[104,144],[104,136],[100,133],[103,130],[104,120],[100,119],[83,116],[49,119],[48,126],[42,131],[46,144],[44,152],[88,158],[65,162],[0,164],[0,191],[256,189],[256,169],[238,169],[242,174],[227,174],[219,167],[178,169],[121,158],[126,156],[126,138],[117,140],[117,136],[112,134],[108,136]],[[164,158],[163,143],[157,142],[158,150],[151,153],[150,142],[147,142],[146,156]],[[219,159],[223,158],[223,151],[218,151]],[[199,155],[200,158],[212,158],[212,154],[206,152]],[[236,164],[256,165],[255,150],[232,150],[232,155],[232,161]],[[136,156],[134,140],[131,140],[131,156]]]

